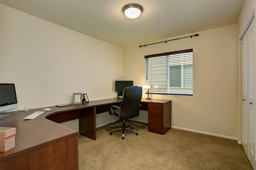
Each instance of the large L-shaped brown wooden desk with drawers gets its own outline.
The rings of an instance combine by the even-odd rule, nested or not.
[[[15,148],[0,152],[0,170],[78,170],[78,134],[96,140],[96,114],[120,106],[116,98],[91,101],[45,112],[34,120],[28,112],[9,112],[0,119],[0,127],[16,127]],[[142,99],[140,110],[148,111],[148,131],[165,134],[172,125],[172,101]],[[58,123],[79,119],[79,133]],[[139,132],[140,133],[140,132]]]

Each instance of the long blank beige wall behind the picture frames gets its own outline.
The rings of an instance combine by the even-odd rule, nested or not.
[[[116,97],[123,55],[115,45],[0,4],[0,83],[15,83],[19,109],[70,103],[79,92],[90,101]],[[113,120],[100,114],[97,125]]]

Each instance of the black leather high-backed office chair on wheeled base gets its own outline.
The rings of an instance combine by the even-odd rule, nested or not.
[[[112,135],[114,130],[122,129],[122,139],[125,139],[125,130],[133,130],[136,135],[139,135],[137,130],[134,130],[130,125],[125,126],[125,120],[132,119],[140,114],[140,101],[142,98],[142,87],[132,86],[124,89],[121,107],[111,106],[110,115],[113,115],[123,121],[122,126],[116,126],[116,129],[109,133]],[[114,109],[114,110],[113,110]],[[131,127],[131,128],[128,128]]]

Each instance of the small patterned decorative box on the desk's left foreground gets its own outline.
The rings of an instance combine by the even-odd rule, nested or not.
[[[0,152],[6,152],[15,147],[16,128],[0,127]]]

